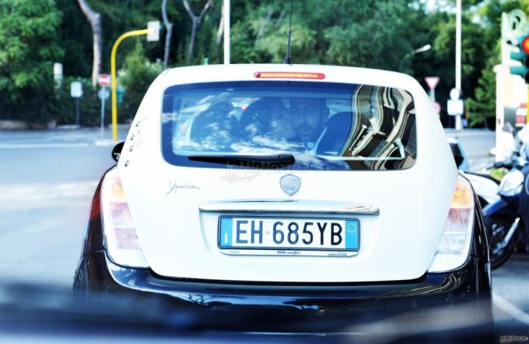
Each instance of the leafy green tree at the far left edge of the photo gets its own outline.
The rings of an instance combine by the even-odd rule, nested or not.
[[[61,61],[61,13],[53,0],[0,1],[0,114],[46,121],[53,63]]]

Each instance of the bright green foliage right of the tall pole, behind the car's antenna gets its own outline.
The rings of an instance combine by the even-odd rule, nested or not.
[[[298,1],[292,22],[292,61],[396,70],[402,56],[415,46],[417,35],[410,33],[408,24],[414,13],[404,0]],[[248,5],[243,18],[233,26],[233,61],[282,63],[289,2]],[[263,34],[256,39],[259,32]]]

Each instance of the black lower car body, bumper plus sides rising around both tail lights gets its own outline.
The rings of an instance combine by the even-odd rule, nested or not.
[[[455,342],[453,336],[468,343],[468,333],[480,343],[491,338],[491,277],[479,206],[469,260],[452,272],[379,283],[248,283],[169,279],[151,269],[116,265],[105,251],[99,192],[100,187],[93,198],[75,290],[128,295],[127,302],[137,301],[140,307],[143,299],[155,299],[163,308],[197,313],[199,329],[380,333],[385,324],[405,336],[409,329],[436,329],[435,336],[439,331],[452,335],[450,343]],[[477,198],[475,202],[479,204]],[[454,331],[458,325],[463,336]]]

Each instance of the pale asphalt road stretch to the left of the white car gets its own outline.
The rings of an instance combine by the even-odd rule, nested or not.
[[[0,132],[2,281],[71,286],[112,146],[98,130]]]

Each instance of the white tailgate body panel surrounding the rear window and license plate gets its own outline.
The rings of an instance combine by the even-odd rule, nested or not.
[[[415,165],[401,171],[250,171],[172,166],[164,161],[160,147],[161,114],[162,95],[167,87],[253,81],[255,72],[266,71],[319,72],[325,74],[325,79],[307,82],[370,84],[410,92],[417,125]],[[139,107],[118,171],[151,269],[162,276],[223,281],[417,279],[427,272],[434,258],[457,180],[457,168],[434,106],[415,79],[396,72],[321,65],[208,65],[163,72]],[[286,195],[279,186],[279,178],[288,173],[302,180],[293,196]],[[321,216],[314,203],[321,203],[321,209],[336,202],[362,203],[378,208],[380,213],[355,215],[362,230],[360,251],[353,256],[222,253],[217,247],[217,221],[222,210],[200,208],[215,201],[244,200],[271,200],[273,206],[281,204],[277,201],[299,201],[296,217]],[[232,214],[248,216],[244,210]],[[274,212],[264,209],[263,214]]]

